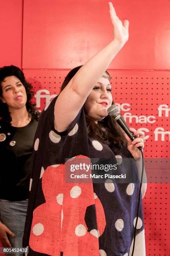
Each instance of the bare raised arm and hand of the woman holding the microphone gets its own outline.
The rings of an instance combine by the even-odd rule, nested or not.
[[[65,131],[77,116],[97,80],[102,76],[112,59],[128,41],[129,21],[123,23],[109,3],[114,38],[105,48],[87,61],[70,80],[55,103],[55,128]]]

